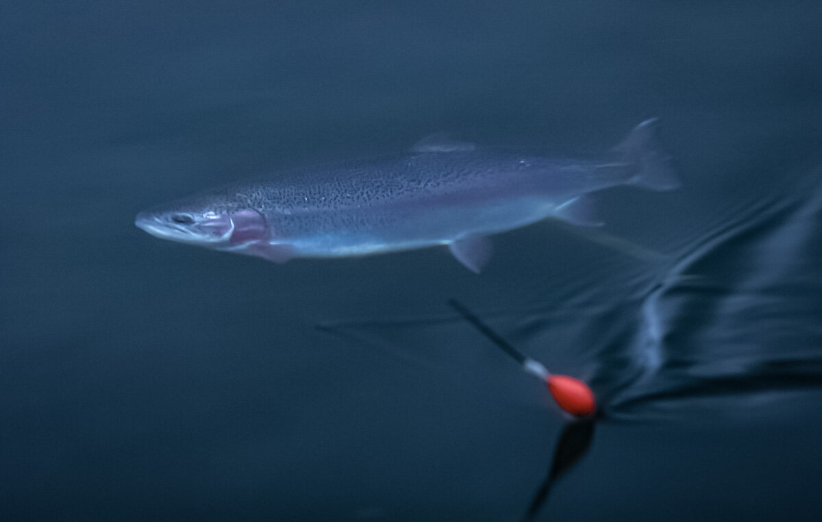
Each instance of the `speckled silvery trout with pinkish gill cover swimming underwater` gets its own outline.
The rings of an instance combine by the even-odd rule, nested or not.
[[[543,219],[597,226],[589,194],[619,185],[680,186],[658,119],[607,160],[487,150],[437,134],[410,150],[259,176],[144,210],[151,235],[282,263],[445,246],[479,273],[489,236]]]

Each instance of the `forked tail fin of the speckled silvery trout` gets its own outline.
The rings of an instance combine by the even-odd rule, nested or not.
[[[637,169],[629,183],[653,191],[673,190],[680,186],[680,182],[671,165],[671,157],[659,144],[657,127],[657,118],[645,120],[634,127],[614,150]]]

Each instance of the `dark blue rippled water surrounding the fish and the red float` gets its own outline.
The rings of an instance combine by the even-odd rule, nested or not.
[[[553,465],[537,520],[818,520],[820,20],[819,2],[0,7],[0,518],[520,520]],[[275,266],[132,225],[431,132],[584,155],[651,116],[681,190],[603,193],[593,237],[503,234],[479,276],[440,249]],[[567,436],[448,298],[588,381],[595,427]]]

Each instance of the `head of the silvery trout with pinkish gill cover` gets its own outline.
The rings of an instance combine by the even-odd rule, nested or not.
[[[260,212],[242,207],[172,203],[143,210],[134,224],[155,238],[215,249],[253,243],[268,233]]]

